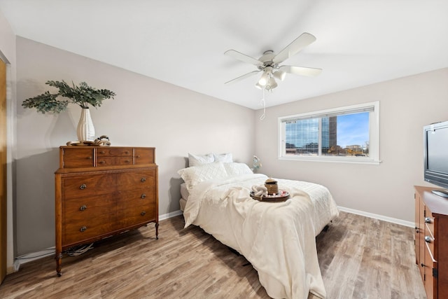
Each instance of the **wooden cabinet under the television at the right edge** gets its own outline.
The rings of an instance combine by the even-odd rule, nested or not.
[[[428,299],[448,298],[448,198],[414,186],[415,256]]]

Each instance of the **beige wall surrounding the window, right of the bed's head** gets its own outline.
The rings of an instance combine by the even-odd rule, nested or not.
[[[448,120],[447,82],[448,69],[440,69],[269,108],[255,125],[262,172],[328,186],[341,207],[413,222],[412,186],[431,186],[423,181],[423,125]],[[380,165],[277,159],[279,116],[374,101],[380,102]]]

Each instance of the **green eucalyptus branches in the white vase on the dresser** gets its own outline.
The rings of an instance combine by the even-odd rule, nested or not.
[[[81,82],[79,86],[73,82],[73,86],[70,86],[65,81],[47,81],[45,84],[58,88],[59,92],[50,93],[46,91],[42,95],[25,99],[22,106],[30,109],[35,108],[43,114],[45,112],[59,113],[64,111],[69,103],[76,104],[81,108],[89,108],[89,105],[99,107],[104,99],[113,99],[116,95],[111,90],[92,88],[85,82]],[[66,99],[58,99],[58,97]]]

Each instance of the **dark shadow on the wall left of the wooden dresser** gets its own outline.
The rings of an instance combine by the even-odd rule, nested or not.
[[[59,148],[16,165],[15,244],[18,256],[55,245],[55,171]]]

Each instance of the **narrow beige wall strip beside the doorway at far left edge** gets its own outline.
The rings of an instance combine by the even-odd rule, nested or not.
[[[7,172],[7,244],[6,244],[6,267],[8,273],[13,272],[15,257],[14,249],[14,151],[15,151],[15,34],[9,23],[0,11],[0,59],[8,62],[6,66],[6,114],[7,114],[7,145],[6,145],[6,172]]]

